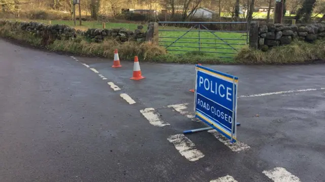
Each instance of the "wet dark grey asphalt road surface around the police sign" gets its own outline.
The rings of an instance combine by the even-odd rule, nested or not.
[[[288,182],[325,181],[323,64],[207,65],[238,76],[241,96],[293,92],[240,97],[238,139],[250,149],[234,152],[209,132],[193,133],[186,137],[204,157],[189,161],[168,138],[204,125],[168,105],[188,103],[184,111],[192,112],[193,65],[140,60],[146,79],[133,81],[132,62],[121,60],[123,67],[113,69],[101,58],[3,40],[0,47],[0,181],[210,181],[230,175],[266,182],[276,180],[263,171],[276,167],[299,178]],[[295,91],[301,89],[310,90]],[[140,113],[145,108],[170,125],[150,124]]]

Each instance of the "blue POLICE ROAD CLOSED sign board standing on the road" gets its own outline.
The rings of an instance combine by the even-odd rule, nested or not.
[[[196,117],[236,142],[238,78],[196,65]]]

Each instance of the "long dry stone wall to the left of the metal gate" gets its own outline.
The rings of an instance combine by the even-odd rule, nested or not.
[[[21,30],[23,32],[34,35],[35,37],[50,37],[51,39],[73,39],[77,35],[83,35],[93,42],[103,42],[104,39],[114,39],[119,42],[136,41],[145,42],[146,40],[152,40],[150,37],[154,28],[154,23],[149,23],[147,30],[144,29],[143,25],[139,25],[135,31],[127,30],[125,28],[112,28],[112,29],[98,29],[89,28],[87,31],[76,30],[75,28],[67,25],[47,25],[38,22],[13,22],[8,20],[0,20],[1,25],[10,25],[12,30]],[[147,38],[147,39],[146,39]]]

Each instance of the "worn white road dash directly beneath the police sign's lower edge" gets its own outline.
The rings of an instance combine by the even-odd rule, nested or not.
[[[221,141],[223,144],[225,144],[227,147],[229,147],[234,152],[240,152],[248,150],[250,147],[237,140],[236,143],[231,143],[230,139],[223,136],[221,133],[217,132],[216,130],[208,130],[209,133],[213,134],[214,137],[216,137],[219,141]]]

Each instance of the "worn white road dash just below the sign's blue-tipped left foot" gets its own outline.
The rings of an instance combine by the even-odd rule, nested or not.
[[[204,157],[204,154],[195,148],[195,144],[183,134],[176,134],[168,137],[168,141],[175,145],[179,153],[189,161],[197,161]]]

